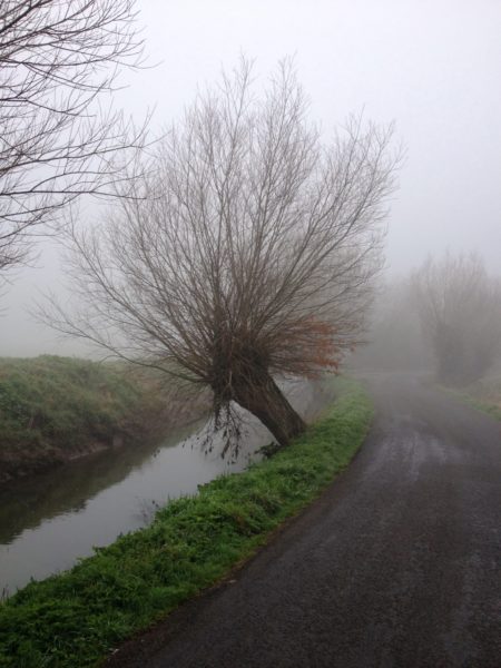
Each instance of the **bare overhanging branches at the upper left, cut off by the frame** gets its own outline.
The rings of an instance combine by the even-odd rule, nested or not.
[[[134,0],[0,3],[0,271],[84,193],[115,193],[143,132],[107,109],[141,62]]]

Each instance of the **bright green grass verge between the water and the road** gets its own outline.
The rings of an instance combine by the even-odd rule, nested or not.
[[[99,665],[266,542],[346,466],[372,419],[366,394],[337,380],[323,420],[288,449],[168,503],[154,523],[33,582],[0,607],[0,666]]]

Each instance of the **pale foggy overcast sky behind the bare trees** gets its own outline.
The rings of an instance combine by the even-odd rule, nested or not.
[[[501,273],[501,2],[499,0],[138,0],[157,67],[116,95],[154,128],[243,52],[265,78],[295,56],[312,117],[326,132],[351,111],[394,120],[407,157],[389,216],[389,271],[429,253],[478,250]],[[58,291],[58,253],[43,246],[2,297],[0,355],[78,353],[26,313]]]

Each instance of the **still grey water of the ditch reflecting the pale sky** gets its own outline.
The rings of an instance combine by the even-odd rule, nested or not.
[[[318,402],[301,386],[293,404],[311,414]],[[203,446],[204,425],[177,430],[159,446],[135,445],[89,455],[0,490],[0,595],[70,568],[92,547],[151,521],[157,504],[226,472],[242,471],[269,433],[252,420],[237,461]]]

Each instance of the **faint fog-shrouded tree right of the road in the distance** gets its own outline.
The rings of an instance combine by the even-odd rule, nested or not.
[[[413,284],[438,377],[452,385],[481,379],[501,351],[499,278],[477,255],[446,255],[430,258]]]

